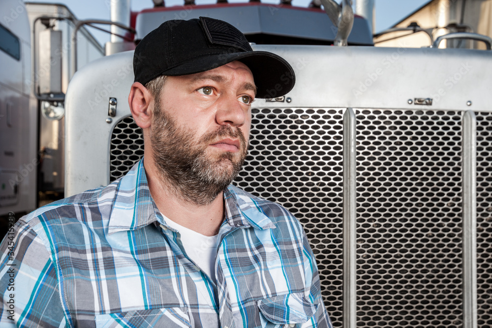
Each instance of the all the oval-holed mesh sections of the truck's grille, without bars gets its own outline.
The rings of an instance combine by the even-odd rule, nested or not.
[[[325,305],[342,327],[340,109],[253,109],[235,184],[304,225]],[[462,112],[356,110],[357,327],[462,327]],[[492,326],[492,113],[477,116],[478,326]],[[111,180],[143,154],[131,117],[112,134]]]

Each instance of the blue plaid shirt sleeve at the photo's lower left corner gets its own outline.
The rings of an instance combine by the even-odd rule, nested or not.
[[[0,326],[64,327],[55,267],[28,223],[10,228],[0,255]]]

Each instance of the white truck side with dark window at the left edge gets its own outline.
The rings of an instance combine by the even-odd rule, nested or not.
[[[22,1],[3,0],[0,12],[0,214],[7,214],[37,207],[39,161],[26,7]]]

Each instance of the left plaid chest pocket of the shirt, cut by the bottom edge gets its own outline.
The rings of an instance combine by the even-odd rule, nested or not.
[[[188,309],[183,307],[99,314],[94,320],[96,328],[191,328]]]

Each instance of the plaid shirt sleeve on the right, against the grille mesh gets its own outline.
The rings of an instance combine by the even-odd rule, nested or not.
[[[304,251],[304,268],[306,277],[306,298],[318,308],[314,315],[302,326],[302,328],[333,328],[328,312],[326,311],[323,298],[321,297],[319,273],[316,265],[316,259],[309,245],[306,233],[303,232],[303,251]]]

